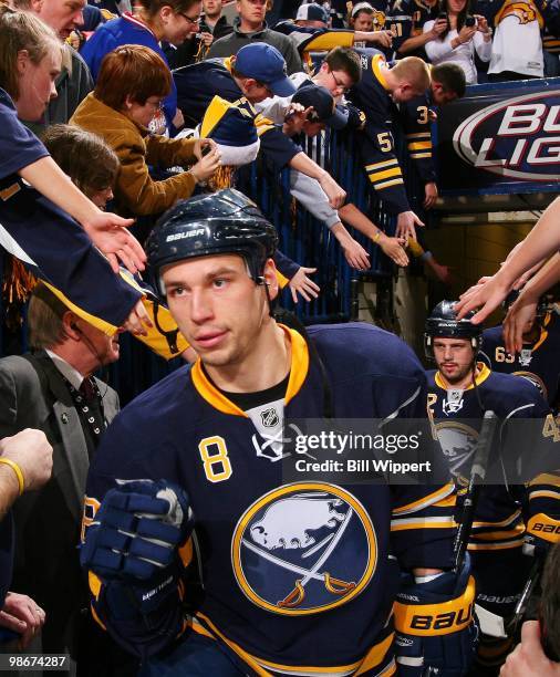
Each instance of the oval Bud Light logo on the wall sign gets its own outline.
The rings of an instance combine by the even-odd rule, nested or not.
[[[455,153],[467,164],[502,177],[558,181],[560,92],[551,90],[477,111],[455,129]]]

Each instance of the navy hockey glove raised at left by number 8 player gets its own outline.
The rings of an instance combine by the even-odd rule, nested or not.
[[[105,579],[158,577],[193,530],[187,493],[164,480],[111,489],[89,527],[80,561]]]

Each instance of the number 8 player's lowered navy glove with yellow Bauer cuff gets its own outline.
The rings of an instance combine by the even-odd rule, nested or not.
[[[401,580],[394,605],[395,655],[405,677],[437,674],[459,677],[475,657],[478,628],[473,615],[475,581],[466,558],[462,571],[426,583],[411,574]]]

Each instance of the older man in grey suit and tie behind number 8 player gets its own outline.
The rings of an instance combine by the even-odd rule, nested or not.
[[[44,487],[15,506],[12,590],[31,595],[46,612],[41,650],[74,653],[76,646],[95,645],[86,619],[87,639],[80,637],[87,606],[76,550],[85,479],[118,412],[115,390],[92,374],[118,360],[118,335],[106,336],[85,322],[44,284],[31,296],[28,319],[32,352],[0,360],[0,438],[24,428],[43,430],[53,446],[53,471]],[[111,652],[104,646],[98,653],[105,659]]]

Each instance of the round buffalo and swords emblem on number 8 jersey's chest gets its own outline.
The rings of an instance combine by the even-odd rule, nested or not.
[[[289,615],[350,602],[370,582],[377,542],[363,506],[323,482],[297,482],[258,499],[231,543],[237,582],[257,606]]]

